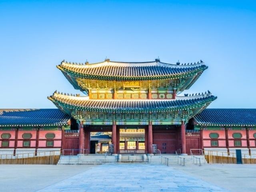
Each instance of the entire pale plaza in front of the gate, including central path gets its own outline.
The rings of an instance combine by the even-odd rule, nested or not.
[[[255,191],[253,164],[0,165],[0,191]]]

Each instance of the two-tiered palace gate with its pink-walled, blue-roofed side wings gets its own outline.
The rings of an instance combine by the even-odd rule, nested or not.
[[[181,96],[208,68],[202,61],[62,61],[57,68],[83,94],[54,92],[48,99],[58,109],[0,110],[0,153],[95,153],[108,150],[110,143],[115,154],[152,154],[152,145],[167,154],[255,150],[256,110],[206,109],[217,98],[209,91]]]

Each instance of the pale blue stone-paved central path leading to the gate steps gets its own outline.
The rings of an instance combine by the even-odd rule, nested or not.
[[[226,192],[172,167],[154,164],[104,164],[38,192]]]

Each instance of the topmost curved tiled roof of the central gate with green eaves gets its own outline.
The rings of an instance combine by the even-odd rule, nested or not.
[[[167,64],[154,62],[114,62],[106,60],[95,64],[71,64],[62,61],[57,66],[75,89],[83,91],[77,78],[111,81],[139,81],[192,78],[187,88],[208,68],[204,62],[197,64]]]

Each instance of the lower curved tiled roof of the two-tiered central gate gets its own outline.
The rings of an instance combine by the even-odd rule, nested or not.
[[[180,96],[176,100],[92,100],[88,97],[54,94],[48,97],[60,110],[88,110],[106,112],[138,112],[186,110],[205,108],[217,97],[211,93],[199,96]]]

